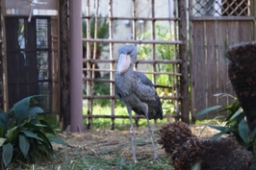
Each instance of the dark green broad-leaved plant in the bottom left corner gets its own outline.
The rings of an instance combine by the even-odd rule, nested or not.
[[[13,105],[8,112],[0,112],[0,153],[2,169],[13,160],[35,163],[39,156],[53,154],[51,142],[68,146],[58,139],[51,126],[43,120],[43,110],[34,97],[27,97]]]

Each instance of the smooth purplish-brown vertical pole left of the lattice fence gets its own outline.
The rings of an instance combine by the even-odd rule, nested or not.
[[[82,1],[70,0],[70,131],[80,133],[83,124]]]

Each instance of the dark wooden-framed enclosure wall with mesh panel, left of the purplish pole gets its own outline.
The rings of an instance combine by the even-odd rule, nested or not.
[[[59,111],[58,2],[1,0],[0,110],[32,95]]]

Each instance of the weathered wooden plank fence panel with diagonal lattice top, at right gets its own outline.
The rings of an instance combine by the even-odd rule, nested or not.
[[[190,68],[192,118],[212,106],[227,106],[226,97],[235,95],[228,78],[225,53],[229,45],[255,39],[255,1],[190,0]],[[197,119],[213,118],[210,114]]]

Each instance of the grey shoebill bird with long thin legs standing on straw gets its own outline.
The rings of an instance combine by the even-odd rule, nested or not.
[[[118,49],[118,61],[115,70],[115,91],[126,106],[130,117],[130,134],[132,138],[133,160],[136,158],[135,131],[132,119],[132,110],[136,114],[144,115],[147,120],[148,132],[150,134],[154,159],[158,159],[153,131],[150,119],[163,119],[163,109],[160,98],[152,82],[141,72],[134,70],[134,63],[137,61],[137,47],[133,44],[126,44]]]

